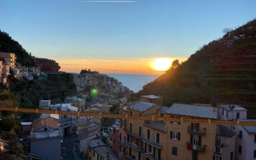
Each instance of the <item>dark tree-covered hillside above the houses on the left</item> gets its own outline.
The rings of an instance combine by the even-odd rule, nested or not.
[[[17,56],[17,62],[20,62],[22,65],[24,63],[26,66],[31,66],[29,58],[31,55],[24,49],[22,46],[9,36],[8,33],[2,32],[0,30],[0,52],[11,52],[15,53]]]

